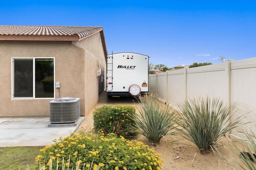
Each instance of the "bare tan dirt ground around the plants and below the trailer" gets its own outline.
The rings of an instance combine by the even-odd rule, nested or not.
[[[94,108],[102,107],[104,104],[106,105],[114,105],[114,104],[124,104],[131,105],[135,107],[138,106],[138,102],[135,98],[107,98],[106,92],[102,92],[99,97],[99,102]],[[76,130],[79,131],[88,131],[93,128],[93,118],[92,118],[92,109],[88,115],[84,117],[84,120]],[[176,141],[180,139],[178,142],[172,143],[172,141]],[[142,135],[138,135],[137,141],[141,141],[145,145],[150,146],[151,148],[155,148],[156,152],[161,154],[161,158],[164,160],[162,169],[163,170],[232,170],[233,168],[226,164],[224,159],[220,156],[216,156],[213,152],[208,154],[200,154],[198,149],[195,147],[193,143],[182,139],[177,136],[167,136],[165,139],[160,141],[156,147],[152,145]],[[223,142],[228,142],[228,138],[223,138]],[[177,144],[179,143],[179,144]],[[183,143],[185,145],[182,145]],[[227,160],[232,162],[233,159],[236,159],[236,156],[225,149],[224,147],[218,148],[220,152],[226,156],[224,156]]]

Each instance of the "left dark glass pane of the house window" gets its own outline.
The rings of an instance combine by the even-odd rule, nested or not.
[[[14,60],[14,97],[33,97],[33,60]]]

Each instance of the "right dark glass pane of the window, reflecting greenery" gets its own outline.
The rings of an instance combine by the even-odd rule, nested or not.
[[[36,98],[54,97],[53,59],[35,60],[35,96]]]

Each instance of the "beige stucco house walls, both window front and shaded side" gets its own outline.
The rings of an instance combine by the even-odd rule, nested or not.
[[[0,117],[47,117],[49,102],[60,97],[80,98],[85,115],[98,102],[97,68],[106,67],[102,33],[80,41],[0,41]],[[104,37],[103,37],[104,40]],[[12,97],[12,58],[50,57],[55,60],[55,98]]]

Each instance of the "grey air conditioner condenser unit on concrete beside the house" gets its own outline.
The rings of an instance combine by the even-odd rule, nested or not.
[[[50,101],[50,123],[74,123],[80,117],[80,98],[58,98]]]

